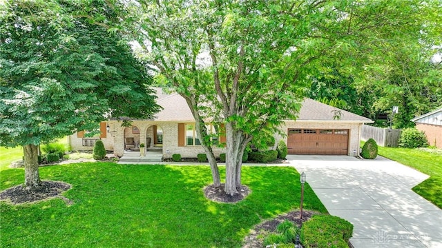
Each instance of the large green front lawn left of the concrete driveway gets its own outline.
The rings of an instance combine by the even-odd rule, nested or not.
[[[222,176],[225,167],[220,167]],[[41,167],[43,180],[73,185],[32,205],[0,203],[3,247],[240,247],[253,225],[297,209],[299,174],[291,167],[243,167],[252,193],[213,203],[202,189],[207,166],[78,163]],[[0,172],[0,190],[23,183],[23,169]],[[304,207],[326,212],[309,185]]]

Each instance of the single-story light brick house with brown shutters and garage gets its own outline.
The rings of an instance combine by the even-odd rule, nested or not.
[[[153,120],[133,120],[132,127],[121,127],[121,122],[100,123],[100,136],[84,138],[84,132],[70,136],[73,150],[93,149],[97,139],[101,139],[108,150],[123,156],[126,138],[133,138],[135,147],[146,143],[147,149],[162,149],[164,158],[172,154],[181,154],[183,158],[196,157],[204,153],[195,132],[195,119],[189,106],[179,94],[165,94],[157,91],[157,104],[163,110]],[[296,121],[287,120],[282,130],[287,136],[276,135],[276,144],[285,141],[289,154],[359,154],[361,126],[373,123],[369,118],[352,114],[345,110],[305,99]],[[108,127],[109,132],[106,131]],[[215,132],[212,126],[209,130]],[[220,142],[225,138],[220,136]],[[215,156],[224,152],[223,148],[214,147]]]

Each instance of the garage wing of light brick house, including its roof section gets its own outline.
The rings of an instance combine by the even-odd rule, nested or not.
[[[298,118],[285,120],[276,141],[287,144],[288,154],[357,156],[361,127],[369,118],[340,110],[312,99],[304,99]]]

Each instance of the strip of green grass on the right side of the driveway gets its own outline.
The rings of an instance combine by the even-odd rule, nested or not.
[[[430,151],[430,152],[429,152]],[[378,147],[378,154],[430,176],[413,191],[442,209],[442,156],[434,149]]]

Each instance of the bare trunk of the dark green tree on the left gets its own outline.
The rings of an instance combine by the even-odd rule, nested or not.
[[[25,158],[25,188],[35,189],[41,184],[39,174],[38,147],[37,145],[23,146]]]

